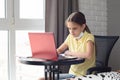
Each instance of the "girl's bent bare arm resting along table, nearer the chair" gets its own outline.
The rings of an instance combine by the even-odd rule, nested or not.
[[[94,43],[92,41],[88,41],[86,46],[87,46],[86,47],[87,50],[85,53],[67,51],[67,52],[65,52],[65,54],[70,55],[70,56],[74,56],[74,57],[90,59],[91,55],[94,52]]]

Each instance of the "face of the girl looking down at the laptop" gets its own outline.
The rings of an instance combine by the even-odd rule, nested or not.
[[[69,33],[73,35],[73,37],[78,37],[81,32],[83,32],[85,28],[85,24],[82,26],[79,24],[76,24],[74,22],[67,22],[67,28],[69,30]]]

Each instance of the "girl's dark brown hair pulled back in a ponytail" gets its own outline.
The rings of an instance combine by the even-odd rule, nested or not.
[[[85,15],[82,12],[73,12],[66,20],[67,22],[75,22],[79,25],[86,24]],[[88,26],[86,25],[85,30],[90,33]]]

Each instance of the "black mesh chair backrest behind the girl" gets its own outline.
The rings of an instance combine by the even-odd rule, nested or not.
[[[108,66],[110,53],[118,38],[119,36],[95,35],[96,66]]]

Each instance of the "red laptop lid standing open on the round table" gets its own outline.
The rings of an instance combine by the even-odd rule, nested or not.
[[[45,60],[57,60],[54,34],[45,33],[28,33],[33,58]]]

